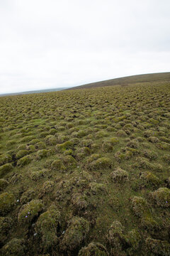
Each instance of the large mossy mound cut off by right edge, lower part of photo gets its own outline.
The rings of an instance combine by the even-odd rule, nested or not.
[[[157,203],[157,206],[167,208],[170,206],[170,189],[159,188],[151,193],[152,198]]]

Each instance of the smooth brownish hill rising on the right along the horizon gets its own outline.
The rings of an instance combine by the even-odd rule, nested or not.
[[[113,85],[132,85],[135,83],[146,83],[146,82],[170,82],[170,72],[166,73],[153,73],[145,75],[131,75],[123,78],[115,78],[110,80],[104,80],[101,82],[91,82],[86,85],[79,85],[76,87],[71,87],[67,90],[76,90],[76,89],[87,89],[94,87],[103,87],[103,86],[113,86]]]

